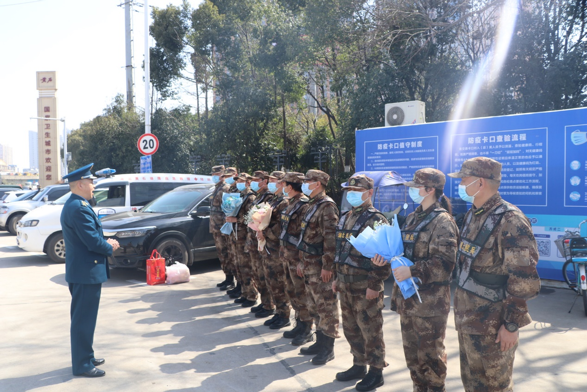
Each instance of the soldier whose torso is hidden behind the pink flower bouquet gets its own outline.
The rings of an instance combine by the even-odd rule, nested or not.
[[[257,193],[257,198],[253,202],[253,205],[259,205],[264,202],[271,202],[273,194],[269,192],[267,188],[267,180],[265,175],[268,173],[264,170],[257,170],[252,175],[251,189]],[[252,206],[251,206],[252,207]],[[268,317],[275,314],[275,303],[267,283],[265,281],[265,271],[263,269],[263,258],[261,252],[258,251],[257,232],[251,228],[247,228],[247,244],[245,245],[245,252],[248,252],[251,258],[251,266],[253,269],[253,280],[257,291],[261,297],[261,303],[257,306],[251,307],[251,312],[255,313],[255,317],[262,318]],[[265,249],[263,252],[266,253]]]

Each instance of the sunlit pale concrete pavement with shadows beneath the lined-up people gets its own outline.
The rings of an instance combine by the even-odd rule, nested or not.
[[[355,382],[335,380],[352,364],[345,338],[336,340],[333,361],[313,366],[282,331],[262,325],[249,309],[232,303],[215,283],[217,262],[191,268],[192,280],[148,286],[142,271],[113,270],[104,283],[95,334],[106,376],[71,374],[70,295],[65,266],[48,256],[23,252],[15,237],[0,232],[0,391],[354,391]],[[389,310],[386,285],[385,384],[377,391],[410,391],[399,316]],[[587,317],[573,292],[543,288],[529,302],[534,322],[520,332],[516,391],[585,391]],[[289,329],[290,327],[286,327]],[[342,334],[342,326],[341,326]],[[462,391],[453,315],[445,340],[446,390]]]

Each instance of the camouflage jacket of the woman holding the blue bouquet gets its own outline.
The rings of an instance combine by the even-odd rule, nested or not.
[[[407,216],[402,232],[414,230],[440,202],[423,211],[421,205]],[[450,279],[457,259],[458,228],[448,212],[440,212],[417,237],[410,266],[411,276],[420,279],[418,286],[422,303],[417,295],[404,299],[402,291],[393,284],[391,309],[403,316],[434,317],[448,315],[450,311]],[[405,245],[404,245],[405,246]]]

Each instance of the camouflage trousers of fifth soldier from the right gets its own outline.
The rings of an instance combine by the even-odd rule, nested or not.
[[[285,293],[295,310],[295,317],[313,325],[314,319],[308,310],[308,292],[303,278],[298,276],[299,251],[294,246],[279,247],[279,258],[285,271]]]

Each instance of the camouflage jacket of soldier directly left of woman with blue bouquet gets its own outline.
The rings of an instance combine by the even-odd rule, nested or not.
[[[345,220],[345,225],[342,229],[350,230],[355,225],[355,222],[359,217],[367,212],[367,209],[373,207],[371,202],[366,206],[359,207],[359,211],[357,212],[358,208],[353,208],[349,212],[347,212],[347,217]],[[373,228],[373,224],[376,221],[383,221],[383,223],[387,223],[387,219],[382,214],[375,214],[371,218],[365,222],[362,228],[359,229],[359,233],[365,230],[366,227]],[[357,251],[352,245],[350,246],[350,257],[351,258],[359,258],[363,257],[359,251]],[[376,266],[373,264],[373,271],[365,271],[365,269],[360,269],[353,267],[352,265],[336,263],[336,272],[342,273],[343,275],[367,275],[367,279],[361,282],[353,282],[353,283],[343,283],[337,280],[336,286],[340,291],[344,292],[357,292],[357,294],[365,294],[365,290],[367,288],[375,290],[375,291],[383,291],[383,281],[389,278],[389,275],[392,273],[392,268],[390,264],[386,264],[382,267]],[[335,276],[336,279],[336,276]]]

